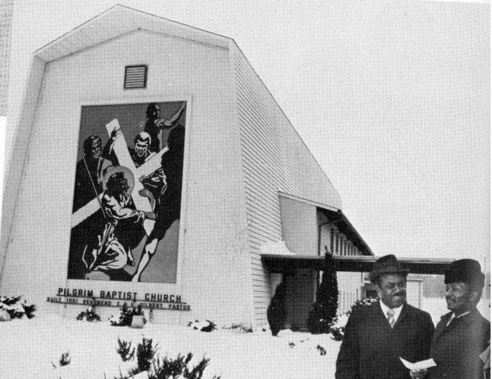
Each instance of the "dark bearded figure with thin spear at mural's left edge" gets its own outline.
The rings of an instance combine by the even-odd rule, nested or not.
[[[82,148],[84,156],[77,162],[75,171],[74,207],[72,212],[89,203],[96,193],[103,191],[104,174],[111,167],[111,161],[101,154],[101,138],[89,136]]]

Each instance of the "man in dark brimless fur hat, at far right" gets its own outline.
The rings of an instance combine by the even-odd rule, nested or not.
[[[431,358],[437,366],[413,373],[414,378],[483,378],[479,355],[491,338],[491,323],[478,312],[485,276],[480,263],[460,259],[449,266],[444,276],[446,303],[451,312],[443,315],[432,338]]]

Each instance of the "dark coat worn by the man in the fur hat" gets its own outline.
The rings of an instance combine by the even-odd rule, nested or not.
[[[432,338],[431,357],[437,367],[429,378],[483,378],[483,362],[478,355],[488,346],[491,323],[475,308],[446,328],[451,312],[443,315]]]

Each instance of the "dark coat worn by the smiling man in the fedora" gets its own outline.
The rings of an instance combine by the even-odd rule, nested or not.
[[[410,378],[399,357],[429,358],[434,331],[431,315],[404,304],[391,329],[379,302],[358,308],[348,318],[336,360],[336,378]]]

